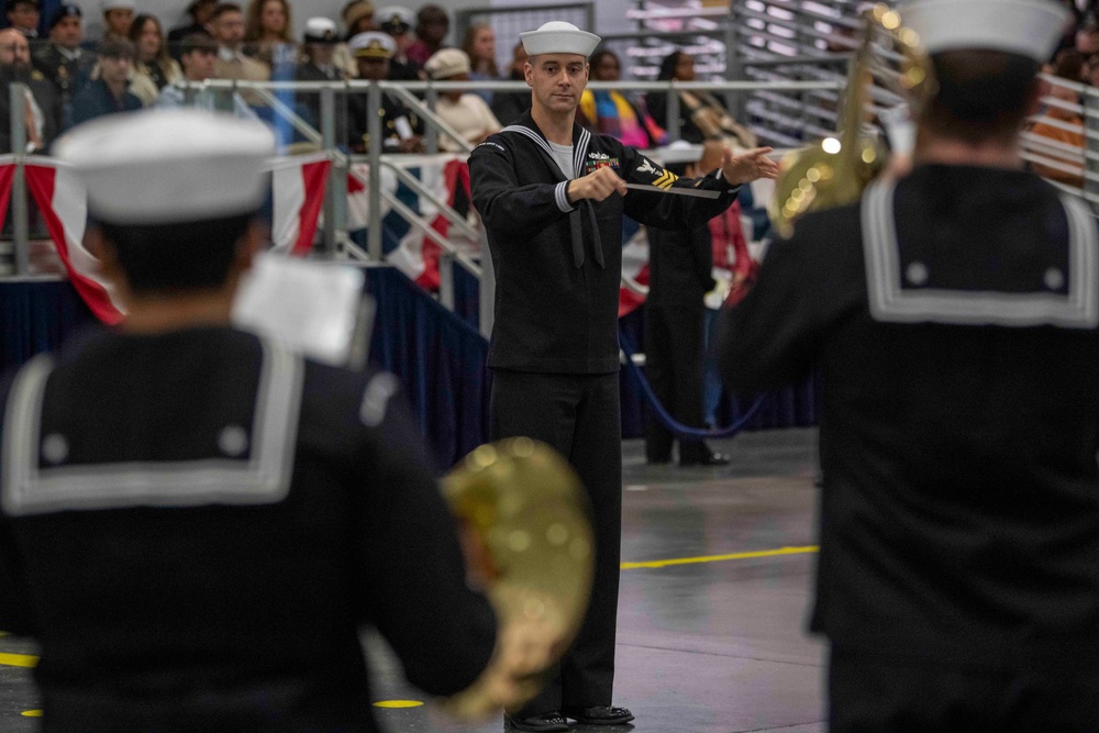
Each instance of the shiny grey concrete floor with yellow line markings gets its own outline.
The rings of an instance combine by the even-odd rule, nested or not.
[[[623,467],[622,557],[615,704],[633,725],[581,733],[823,733],[823,647],[804,633],[815,555],[815,431],[743,434],[712,446],[732,456],[719,468],[645,465],[628,441]],[[787,554],[771,551],[790,548]],[[752,556],[751,553],[758,553]],[[743,556],[748,554],[747,557]],[[723,557],[723,556],[732,557]],[[403,684],[384,644],[366,638],[377,668],[376,699],[423,697]],[[29,670],[11,654],[24,640],[0,637],[0,731],[35,730]],[[456,724],[430,704],[379,709],[390,733],[496,733],[499,720]]]

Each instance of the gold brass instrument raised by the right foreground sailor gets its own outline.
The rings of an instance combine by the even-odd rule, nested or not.
[[[864,134],[864,122],[873,115],[868,102],[878,79],[895,97],[919,104],[934,86],[928,56],[920,38],[901,25],[900,14],[877,4],[864,14],[863,40],[851,62],[846,99],[839,115],[839,137],[791,153],[782,160],[775,185],[770,218],[784,237],[793,233],[802,214],[857,201],[866,186],[881,173],[888,153],[876,135]],[[898,65],[899,69],[890,65]],[[886,92],[888,93],[888,92]]]

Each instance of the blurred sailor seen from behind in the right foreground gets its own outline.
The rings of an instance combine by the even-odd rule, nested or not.
[[[1065,11],[900,10],[939,77],[914,168],[771,245],[723,370],[823,370],[831,731],[1094,732],[1099,237],[1020,157]]]

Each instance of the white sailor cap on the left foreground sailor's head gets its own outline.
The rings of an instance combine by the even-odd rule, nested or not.
[[[255,211],[275,135],[258,121],[196,109],[147,110],[77,125],[54,145],[111,224],[170,224]]]

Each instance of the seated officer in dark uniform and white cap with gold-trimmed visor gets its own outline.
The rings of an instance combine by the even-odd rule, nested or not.
[[[385,33],[359,33],[348,44],[358,62],[358,76],[370,81],[384,81],[389,74],[389,59],[396,45]],[[387,153],[422,153],[423,122],[400,99],[381,95],[381,146]],[[356,153],[369,149],[366,96],[354,95],[347,100],[348,143]]]

